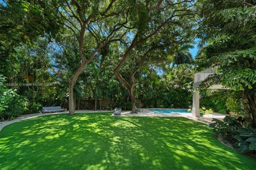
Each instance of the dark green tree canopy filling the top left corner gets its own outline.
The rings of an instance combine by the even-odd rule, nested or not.
[[[0,72],[11,77],[10,61],[16,47],[31,45],[38,37],[53,38],[61,22],[47,1],[0,1]],[[33,46],[33,45],[31,45]]]

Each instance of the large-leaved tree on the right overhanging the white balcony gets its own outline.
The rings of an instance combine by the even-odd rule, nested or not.
[[[243,93],[245,117],[256,127],[255,1],[198,1],[197,5],[202,17],[198,37],[206,44],[199,50],[196,63],[201,69],[219,67],[219,74],[206,82],[211,84],[215,78]]]

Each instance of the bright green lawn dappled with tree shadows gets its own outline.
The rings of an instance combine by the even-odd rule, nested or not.
[[[174,117],[50,115],[0,132],[0,169],[255,169],[204,124]]]

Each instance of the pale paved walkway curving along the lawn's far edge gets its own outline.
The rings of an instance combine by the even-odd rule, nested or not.
[[[104,112],[113,112],[113,111],[76,111],[75,113],[104,113]],[[39,116],[46,116],[46,115],[55,115],[55,114],[68,114],[68,112],[56,112],[56,113],[35,113],[35,114],[28,114],[28,115],[21,115],[17,118],[15,118],[12,121],[3,121],[0,122],[0,131],[4,128],[4,126],[12,124],[14,122],[19,122],[22,120],[27,120],[29,118],[39,117]],[[186,117],[191,120],[201,122],[204,124],[210,124],[212,121],[212,118],[218,118],[220,120],[223,120],[225,115],[219,114],[219,113],[213,113],[213,115],[204,116],[204,117],[193,117],[191,113],[154,113],[150,111],[149,109],[143,109],[143,112],[139,112],[138,114],[132,114],[131,111],[122,111],[122,114],[120,116],[142,116],[142,117]]]

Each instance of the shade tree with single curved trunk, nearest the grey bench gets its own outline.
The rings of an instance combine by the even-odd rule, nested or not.
[[[132,10],[125,1],[59,1],[53,3],[65,27],[69,28],[77,39],[80,66],[74,72],[69,83],[69,114],[73,115],[74,86],[85,66],[101,55],[101,50],[113,43],[122,41]]]

